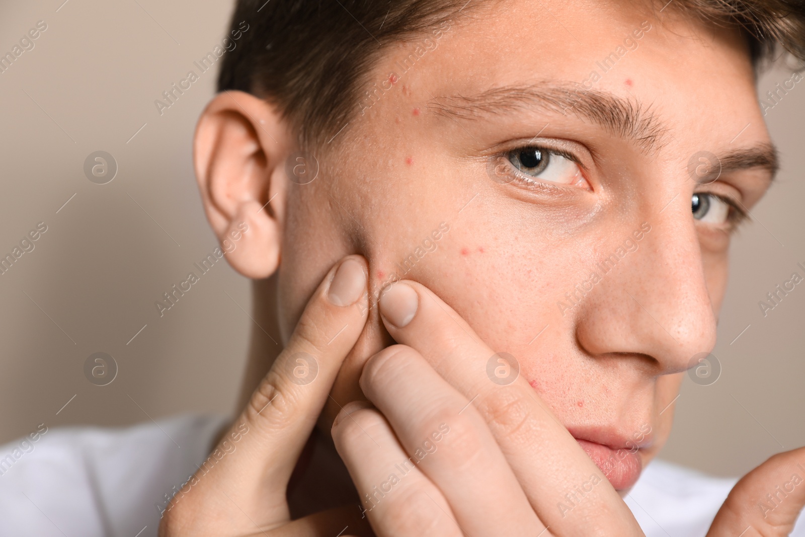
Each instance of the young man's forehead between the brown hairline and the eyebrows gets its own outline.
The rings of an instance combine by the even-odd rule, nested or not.
[[[502,87],[539,93],[539,85],[555,81],[651,109],[671,138],[691,147],[718,145],[747,123],[743,138],[768,139],[749,51],[736,30],[642,2],[505,0],[475,7],[456,14],[447,29],[394,45],[371,81],[391,77],[402,86],[390,92],[396,105],[439,109],[458,99],[470,113],[484,111],[473,97]],[[490,114],[506,111],[489,107]]]

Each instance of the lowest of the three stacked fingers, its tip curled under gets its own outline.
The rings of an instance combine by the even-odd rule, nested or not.
[[[365,402],[347,404],[332,423],[332,440],[379,537],[463,535],[444,495],[411,461],[378,411]]]

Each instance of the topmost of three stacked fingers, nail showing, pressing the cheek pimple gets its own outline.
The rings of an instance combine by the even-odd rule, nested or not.
[[[419,351],[481,412],[532,508],[556,535],[642,535],[634,515],[601,470],[517,374],[427,287],[386,287],[380,311],[394,341]],[[507,366],[510,368],[506,374]],[[503,375],[497,375],[504,369]],[[514,373],[512,373],[514,372]],[[639,464],[639,462],[637,463]]]

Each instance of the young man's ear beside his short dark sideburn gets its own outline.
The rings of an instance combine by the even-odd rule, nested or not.
[[[193,163],[221,250],[247,278],[279,265],[291,135],[273,105],[249,93],[219,93],[201,114]]]

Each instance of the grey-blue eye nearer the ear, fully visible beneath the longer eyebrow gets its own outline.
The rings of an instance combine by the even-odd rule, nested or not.
[[[518,147],[509,151],[507,159],[518,172],[519,179],[535,184],[538,181],[568,184],[588,188],[579,165],[570,157],[544,147]],[[533,179],[532,179],[533,178]]]

